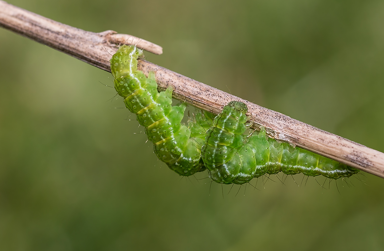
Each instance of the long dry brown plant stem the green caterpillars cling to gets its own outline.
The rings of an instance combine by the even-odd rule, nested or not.
[[[114,43],[121,43],[122,40],[129,42],[130,39],[136,43],[136,40],[128,37],[129,35],[116,35],[114,31],[93,33],[80,30],[3,1],[0,1],[0,26],[105,71],[110,71],[109,59],[117,50]],[[232,100],[244,102],[248,106],[248,115],[254,121],[253,128],[265,126],[268,136],[272,138],[384,178],[384,153],[260,107],[151,62],[142,60],[138,67],[145,74],[148,71],[155,72],[159,90],[165,90],[172,85],[175,89],[174,98],[178,100],[215,114]]]

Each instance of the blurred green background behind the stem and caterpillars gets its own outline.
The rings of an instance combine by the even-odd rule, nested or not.
[[[152,41],[151,62],[384,151],[383,1],[8,2]],[[383,179],[237,194],[180,178],[115,109],[108,72],[4,29],[0,44],[1,250],[384,249]]]

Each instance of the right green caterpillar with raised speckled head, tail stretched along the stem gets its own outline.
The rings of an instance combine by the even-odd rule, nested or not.
[[[323,175],[330,179],[350,177],[359,172],[305,149],[267,139],[264,128],[257,135],[244,136],[247,111],[244,103],[229,102],[207,132],[201,154],[215,182],[244,184],[254,177],[280,171],[288,175],[300,172],[306,176]]]

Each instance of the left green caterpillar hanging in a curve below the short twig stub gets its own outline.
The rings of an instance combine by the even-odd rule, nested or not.
[[[183,176],[204,171],[200,149],[210,126],[208,120],[212,118],[197,115],[189,120],[188,126],[183,125],[186,105],[172,106],[172,87],[159,93],[154,72],[149,72],[147,78],[137,70],[137,59],[142,56],[142,50],[132,45],[121,46],[112,56],[111,73],[116,91],[124,98],[126,107],[136,113],[161,161]]]

